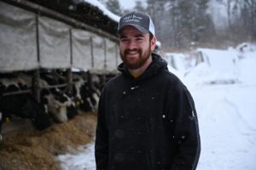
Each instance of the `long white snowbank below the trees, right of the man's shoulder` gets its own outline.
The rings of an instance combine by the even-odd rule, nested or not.
[[[255,84],[255,52],[255,44],[242,43],[227,50],[198,48],[186,54],[167,53],[164,59],[186,84]]]

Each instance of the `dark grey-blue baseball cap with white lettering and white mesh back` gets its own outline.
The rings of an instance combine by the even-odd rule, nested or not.
[[[119,20],[119,34],[125,26],[134,26],[138,31],[143,33],[150,32],[154,36],[154,23],[148,14],[137,11],[125,14]]]

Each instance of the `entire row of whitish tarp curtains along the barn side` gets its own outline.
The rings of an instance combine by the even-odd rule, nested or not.
[[[38,17],[37,46],[37,15],[3,2],[0,8],[0,72],[70,67],[114,71],[120,63],[115,42],[43,16]]]

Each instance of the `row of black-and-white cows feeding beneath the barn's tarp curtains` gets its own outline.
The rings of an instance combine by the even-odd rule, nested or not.
[[[80,111],[96,111],[102,79],[88,72],[73,72],[72,90],[67,86],[65,71],[40,71],[39,102],[32,93],[33,74],[0,74],[0,138],[4,122],[14,117],[30,119],[43,130],[55,122],[67,122]],[[19,93],[20,92],[20,93]],[[22,93],[25,92],[25,93]]]

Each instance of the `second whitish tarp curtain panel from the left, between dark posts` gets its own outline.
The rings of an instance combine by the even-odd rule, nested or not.
[[[46,17],[38,21],[40,66],[49,69],[70,67],[69,26]]]

